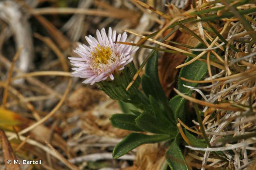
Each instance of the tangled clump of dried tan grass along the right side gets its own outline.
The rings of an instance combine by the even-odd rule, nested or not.
[[[254,4],[246,4],[239,8],[247,9],[249,6],[255,7]],[[255,40],[249,35],[256,33],[256,13],[247,15],[246,19],[250,21],[254,31],[247,31],[241,20],[235,17],[220,21],[224,28],[228,28],[226,31],[228,43],[221,44],[226,48],[223,50],[225,69],[211,69],[210,77],[198,81],[210,84],[194,88],[205,102],[229,103],[234,108],[233,111],[211,105],[205,105],[202,108],[204,114],[202,123],[211,147],[209,145],[207,148],[187,146],[190,149],[187,159],[196,163],[197,167],[202,163],[201,169],[256,168],[256,45]],[[232,50],[230,45],[240,52]],[[199,130],[199,123],[195,120],[193,122],[195,124],[193,129]],[[203,135],[199,134],[199,136],[202,138]]]

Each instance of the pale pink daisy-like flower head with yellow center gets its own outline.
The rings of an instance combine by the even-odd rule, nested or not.
[[[80,57],[69,57],[71,65],[75,66],[71,76],[86,78],[83,83],[91,85],[108,78],[114,80],[113,74],[123,70],[133,60],[131,54],[138,50],[138,47],[132,50],[132,46],[114,43],[125,42],[126,32],[116,38],[116,31],[112,33],[110,27],[108,36],[104,28],[97,30],[96,35],[98,40],[91,35],[85,36],[90,46],[83,44],[74,50]]]

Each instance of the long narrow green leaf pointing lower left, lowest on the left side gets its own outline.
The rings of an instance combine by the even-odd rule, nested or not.
[[[113,150],[113,158],[117,159],[129,151],[145,143],[156,143],[170,139],[168,135],[145,135],[131,133],[120,141]]]

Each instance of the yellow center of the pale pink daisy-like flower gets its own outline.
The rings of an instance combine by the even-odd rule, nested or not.
[[[96,53],[91,52],[94,62],[96,64],[109,64],[109,60],[113,60],[113,58],[111,58],[111,49],[109,47],[102,47],[99,44],[97,47],[95,47]]]

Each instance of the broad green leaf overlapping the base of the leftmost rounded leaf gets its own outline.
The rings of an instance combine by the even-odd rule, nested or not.
[[[153,116],[152,111],[146,110],[135,120],[139,128],[158,134],[168,134],[172,138],[176,135],[176,126],[169,121],[161,122],[159,119]]]

